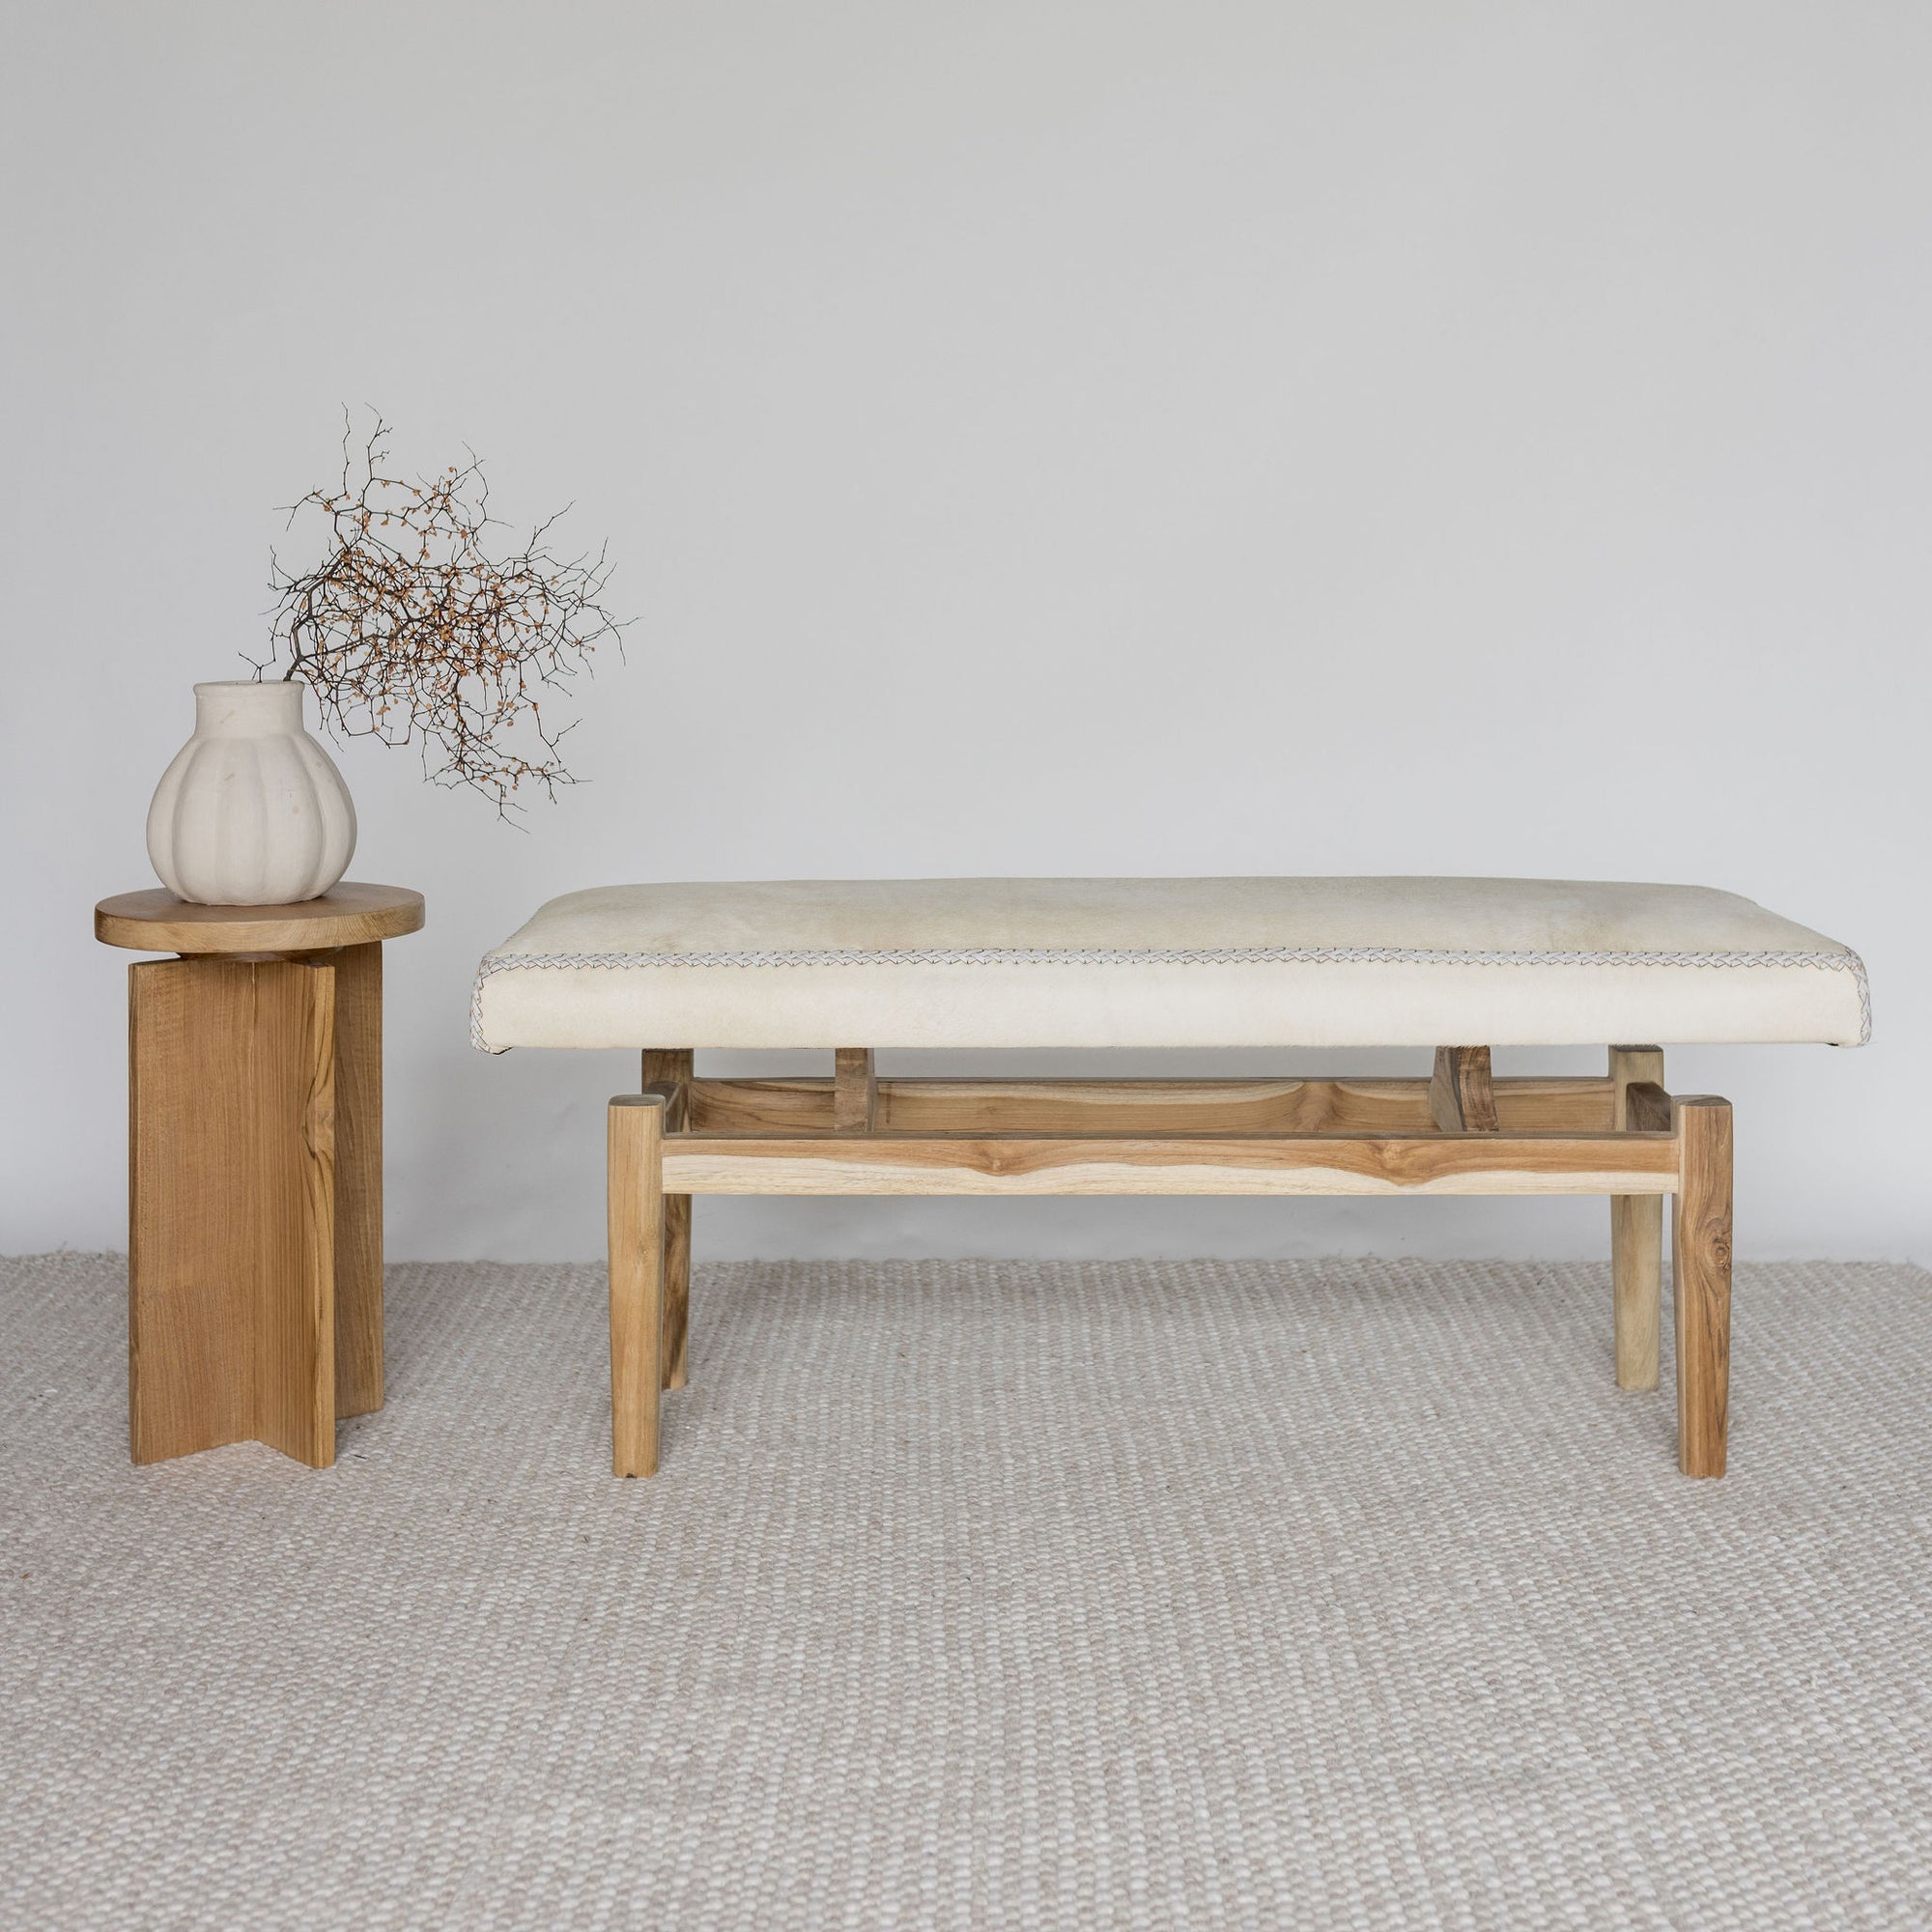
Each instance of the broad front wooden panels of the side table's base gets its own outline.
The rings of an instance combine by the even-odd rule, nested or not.
[[[129,970],[129,1447],[334,1461],[334,968]]]

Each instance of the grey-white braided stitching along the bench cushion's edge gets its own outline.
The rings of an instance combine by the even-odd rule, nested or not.
[[[1457,952],[1428,947],[978,947],[825,952],[493,952],[469,995],[469,1043],[483,1039],[483,981],[498,972],[645,966],[1822,966],[1859,985],[1859,1045],[1872,1037],[1872,987],[1857,952]]]

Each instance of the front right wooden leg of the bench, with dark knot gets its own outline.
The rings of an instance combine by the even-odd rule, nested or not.
[[[1677,1466],[1687,1476],[1721,1476],[1731,1397],[1731,1103],[1679,1097],[1677,1140]]]

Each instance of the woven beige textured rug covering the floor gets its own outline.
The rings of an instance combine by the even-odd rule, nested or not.
[[[0,1264],[0,1924],[1932,1924],[1932,1277],[1741,1273],[1731,1476],[1600,1267],[400,1267],[311,1474],[131,1470]],[[1665,1385],[1669,1366],[1665,1364]]]

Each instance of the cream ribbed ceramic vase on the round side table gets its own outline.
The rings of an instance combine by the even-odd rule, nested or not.
[[[147,856],[176,898],[288,906],[348,871],[355,806],[301,728],[305,686],[197,684],[195,736],[147,808]]]

